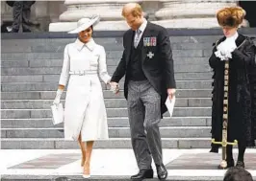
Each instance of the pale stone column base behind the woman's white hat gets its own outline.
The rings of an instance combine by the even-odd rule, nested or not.
[[[128,26],[121,16],[123,5],[141,0],[65,0],[66,11],[60,15],[58,23],[51,23],[50,32],[67,32],[74,29],[82,17],[99,14],[101,19],[95,30],[127,30]]]

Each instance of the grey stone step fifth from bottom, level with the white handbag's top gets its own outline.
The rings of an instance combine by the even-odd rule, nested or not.
[[[105,99],[106,108],[125,108],[127,101],[125,99]],[[9,100],[1,101],[2,109],[47,109],[53,103],[53,100]],[[63,102],[64,103],[64,102]],[[210,98],[177,98],[175,105],[177,107],[203,107],[211,106]]]

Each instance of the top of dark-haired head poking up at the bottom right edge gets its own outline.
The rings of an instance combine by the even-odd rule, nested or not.
[[[233,167],[226,171],[223,181],[253,181],[253,179],[247,170]]]

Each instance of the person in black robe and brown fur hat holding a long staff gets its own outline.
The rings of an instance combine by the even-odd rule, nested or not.
[[[224,99],[224,64],[229,61],[228,84],[228,127],[227,141],[238,141],[239,155],[237,167],[244,168],[243,156],[246,147],[255,146],[255,115],[252,110],[255,97],[253,72],[255,68],[256,47],[251,38],[238,34],[239,25],[243,22],[245,11],[240,7],[224,8],[218,11],[218,24],[224,36],[214,46],[209,64],[213,68],[213,106],[212,138],[221,142]],[[256,92],[256,91],[255,91]],[[254,107],[255,109],[255,107]],[[218,152],[219,145],[212,144],[210,152]],[[227,168],[234,167],[232,146],[227,146]],[[222,169],[218,166],[218,169]]]

